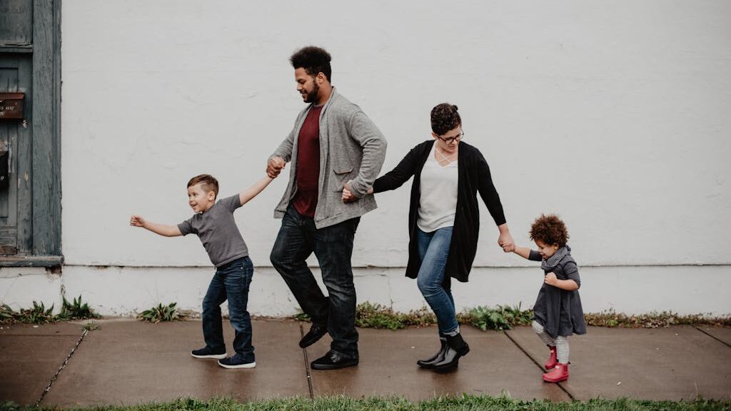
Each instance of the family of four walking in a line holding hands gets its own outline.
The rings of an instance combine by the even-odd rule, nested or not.
[[[265,189],[289,162],[287,189],[274,211],[281,227],[270,260],[311,317],[311,328],[300,347],[314,344],[325,334],[332,338],[330,350],[312,361],[312,369],[357,366],[351,257],[360,216],[376,208],[374,194],[398,189],[413,177],[406,276],[417,280],[436,315],[435,342],[439,341],[438,352],[418,360],[418,366],[455,369],[469,352],[457,322],[451,281],[469,280],[480,232],[479,194],[499,230],[498,244],[504,252],[541,261],[545,277],[534,305],[533,328],[549,349],[542,378],[567,380],[567,337],[586,333],[586,326],[577,291],[580,279],[564,223],[557,216],[540,216],[530,232],[538,250],[515,245],[488,162],[480,150],[463,142],[466,133],[458,108],[447,103],[431,110],[431,138],[414,146],[393,170],[379,177],[385,137],[363,110],[332,85],[330,54],[306,47],[294,53],[290,62],[307,106],[268,159],[264,178],[216,201],[218,181],[209,175],[196,176],[187,186],[189,206],[195,213],[190,219],[178,225],[161,225],[141,216],[130,219],[130,225],[159,235],[197,235],[216,267],[202,303],[205,347],[192,355],[216,358],[225,368],[256,366],[246,308],[254,270],[233,213]],[[327,295],[306,263],[313,253]],[[223,339],[220,306],[224,301],[235,330],[232,356],[227,356]]]

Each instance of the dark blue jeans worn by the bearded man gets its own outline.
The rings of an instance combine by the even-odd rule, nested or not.
[[[302,310],[313,323],[327,325],[327,332],[333,337],[330,350],[344,358],[358,358],[355,286],[350,265],[358,222],[360,217],[317,230],[314,219],[300,215],[290,204],[270,256]],[[312,252],[319,262],[329,298],[322,294],[307,267],[305,260]]]

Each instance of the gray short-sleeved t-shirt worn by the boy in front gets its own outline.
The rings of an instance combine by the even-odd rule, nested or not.
[[[249,249],[233,218],[233,212],[240,206],[238,194],[221,198],[207,211],[178,224],[178,230],[183,235],[198,235],[211,263],[216,267],[246,257]]]

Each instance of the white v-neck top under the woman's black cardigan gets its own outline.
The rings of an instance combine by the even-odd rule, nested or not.
[[[455,225],[457,210],[458,160],[442,167],[434,158],[434,150],[436,140],[421,172],[417,226],[425,233]]]

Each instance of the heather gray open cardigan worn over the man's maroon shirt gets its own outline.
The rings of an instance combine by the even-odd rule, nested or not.
[[[298,136],[312,106],[308,105],[299,113],[292,132],[272,154],[272,157],[279,156],[284,161],[292,162],[289,184],[274,210],[275,218],[284,216],[289,202],[295,196]],[[320,113],[319,137],[319,194],[315,227],[336,225],[374,210],[376,199],[373,195],[366,195],[366,192],[381,171],[386,157],[386,139],[373,121],[360,107],[333,88],[330,99],[327,99]],[[343,203],[343,185],[349,180],[352,180],[350,190],[358,200]]]

